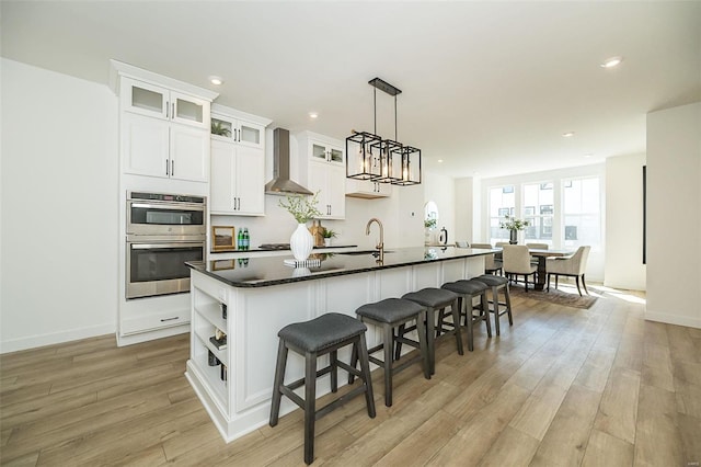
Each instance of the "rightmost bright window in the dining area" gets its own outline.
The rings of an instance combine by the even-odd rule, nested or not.
[[[563,246],[601,243],[599,178],[563,180]]]

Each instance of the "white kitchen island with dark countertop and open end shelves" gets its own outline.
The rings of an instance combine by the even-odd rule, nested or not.
[[[493,252],[388,249],[382,261],[371,251],[318,253],[309,267],[286,265],[291,257],[188,263],[192,328],[185,376],[225,441],[233,441],[268,421],[279,329],[330,311],[355,317],[370,301],[474,277]],[[222,333],[226,344],[216,339]],[[369,328],[367,340],[372,346],[381,334]],[[349,350],[340,351],[340,358],[348,356]],[[303,358],[290,353],[286,380],[302,375]],[[329,376],[319,379],[317,394],[329,390]],[[284,399],[280,414],[296,408]]]

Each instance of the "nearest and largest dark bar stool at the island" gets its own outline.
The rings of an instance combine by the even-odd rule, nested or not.
[[[271,426],[277,424],[283,395],[287,396],[304,411],[304,463],[307,464],[311,464],[314,460],[314,422],[317,420],[363,392],[365,392],[368,415],[371,419],[375,418],[375,399],[365,331],[367,331],[367,327],[357,319],[330,312],[310,321],[288,324],[277,333],[280,340],[273,384]],[[357,352],[360,360],[360,371],[336,358],[338,349],[350,344],[353,344],[354,351]],[[304,377],[285,385],[285,367],[287,366],[287,351],[289,349],[300,355],[304,355]],[[325,354],[330,354],[329,366],[317,371],[317,358]],[[331,391],[336,392],[338,390],[338,366],[363,379],[363,385],[315,410],[317,378],[331,373]],[[294,392],[295,389],[302,385],[304,386],[303,399]]]

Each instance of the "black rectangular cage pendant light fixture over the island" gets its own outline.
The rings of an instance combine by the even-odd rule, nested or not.
[[[352,130],[346,138],[346,178],[371,180],[406,186],[421,183],[421,149],[397,139],[397,95],[402,91],[380,78],[368,84],[375,88],[375,133]],[[394,139],[377,135],[377,90],[394,96]]]

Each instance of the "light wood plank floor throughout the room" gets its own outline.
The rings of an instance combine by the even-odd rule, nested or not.
[[[377,418],[359,397],[320,420],[314,465],[698,466],[701,330],[644,321],[641,294],[589,291],[588,310],[516,299],[514,327],[463,356],[444,340],[433,379],[397,376],[392,408],[376,371]],[[226,444],[187,354],[184,334],[2,355],[1,464],[303,465],[299,410]]]

